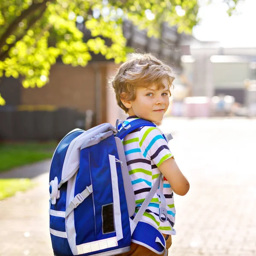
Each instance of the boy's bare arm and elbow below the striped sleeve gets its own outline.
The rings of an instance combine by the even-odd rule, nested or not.
[[[177,195],[186,195],[189,191],[189,181],[180,172],[179,167],[173,157],[166,159],[158,167],[161,173],[163,173],[166,180],[170,183],[173,192]]]

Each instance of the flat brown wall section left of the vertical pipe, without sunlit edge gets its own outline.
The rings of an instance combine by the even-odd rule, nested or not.
[[[42,88],[22,88],[21,104],[55,105],[95,111],[95,75],[92,65],[72,67],[52,66],[49,83]]]

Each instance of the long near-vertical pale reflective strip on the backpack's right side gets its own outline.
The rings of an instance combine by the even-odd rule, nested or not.
[[[113,205],[114,205],[114,220],[115,220],[115,230],[117,241],[123,239],[122,233],[122,218],[120,209],[120,198],[118,189],[118,178],[116,171],[116,157],[108,155],[111,169],[111,182],[113,190]]]

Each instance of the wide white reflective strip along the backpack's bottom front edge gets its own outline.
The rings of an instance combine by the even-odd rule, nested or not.
[[[117,239],[115,237],[107,238],[107,239],[102,239],[99,241],[93,241],[90,243],[85,243],[85,244],[79,244],[76,246],[77,253],[79,254],[84,254],[84,253],[91,253],[95,252],[98,250],[104,250],[107,248],[111,247],[116,247],[118,246],[117,244]]]

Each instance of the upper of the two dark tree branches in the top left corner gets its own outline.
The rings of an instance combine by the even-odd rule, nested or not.
[[[12,35],[12,33],[17,29],[17,26],[19,25],[20,21],[26,18],[28,15],[31,15],[34,13],[38,8],[41,8],[41,6],[44,6],[47,2],[52,2],[53,0],[45,0],[42,3],[35,3],[33,2],[31,6],[29,6],[28,9],[24,10],[20,16],[18,16],[15,20],[12,21],[12,23],[9,25],[8,29],[0,38],[0,51],[2,47],[5,44],[6,39]]]

